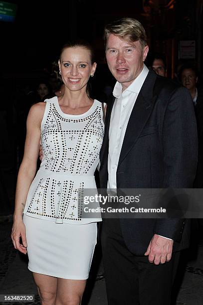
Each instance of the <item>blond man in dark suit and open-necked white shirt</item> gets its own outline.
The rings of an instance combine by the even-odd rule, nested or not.
[[[189,92],[144,65],[149,48],[139,21],[112,22],[104,38],[117,83],[106,111],[101,188],[192,187],[197,130]],[[184,224],[173,218],[103,220],[109,305],[170,304],[175,252],[189,243]]]

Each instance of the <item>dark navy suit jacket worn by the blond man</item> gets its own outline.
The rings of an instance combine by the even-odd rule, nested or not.
[[[107,107],[100,152],[101,188],[106,188],[108,181],[109,123],[114,100]],[[191,188],[197,157],[197,126],[190,93],[150,70],[126,129],[117,188]],[[189,232],[188,224],[184,229],[185,222],[172,218],[120,219],[125,243],[136,255],[144,255],[155,233],[174,239],[175,251],[186,248]]]

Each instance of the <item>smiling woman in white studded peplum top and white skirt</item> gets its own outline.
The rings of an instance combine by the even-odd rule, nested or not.
[[[96,69],[91,47],[67,44],[58,63],[64,95],[33,105],[28,114],[11,238],[28,253],[42,305],[79,305],[101,218],[80,218],[77,192],[96,188],[104,124],[102,104],[87,94]],[[34,178],[40,139],[43,158]]]

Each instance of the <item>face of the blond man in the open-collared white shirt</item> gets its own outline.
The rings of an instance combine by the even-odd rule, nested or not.
[[[141,47],[140,41],[129,42],[110,34],[106,45],[109,70],[125,90],[143,69],[149,47]]]

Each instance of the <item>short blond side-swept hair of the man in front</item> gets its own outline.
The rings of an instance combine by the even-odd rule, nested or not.
[[[104,28],[104,44],[110,34],[129,42],[140,41],[142,49],[147,45],[147,35],[143,25],[134,18],[121,18],[107,24]]]

